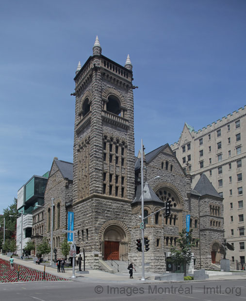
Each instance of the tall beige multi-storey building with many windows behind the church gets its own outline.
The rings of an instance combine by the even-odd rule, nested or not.
[[[198,131],[185,123],[180,139],[171,145],[184,169],[188,162],[192,187],[204,173],[224,198],[225,237],[235,247],[227,258],[234,267],[236,262],[245,263],[246,256],[245,133],[246,106]]]

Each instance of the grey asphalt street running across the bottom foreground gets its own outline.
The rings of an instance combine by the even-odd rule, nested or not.
[[[246,299],[246,282],[206,281],[176,284],[88,284],[35,282],[0,284],[1,301],[165,300],[240,301]]]

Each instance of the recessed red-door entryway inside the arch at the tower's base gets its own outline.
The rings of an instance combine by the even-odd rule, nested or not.
[[[110,225],[105,229],[102,241],[102,254],[104,260],[119,260],[122,255],[128,256],[127,235],[119,225]]]

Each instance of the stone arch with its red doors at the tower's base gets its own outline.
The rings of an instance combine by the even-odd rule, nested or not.
[[[116,219],[106,221],[98,234],[104,260],[119,260],[122,256],[128,257],[131,234],[122,221]]]

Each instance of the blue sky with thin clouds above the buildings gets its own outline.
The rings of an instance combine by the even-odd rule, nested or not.
[[[0,3],[0,213],[54,157],[73,161],[74,76],[98,35],[133,65],[136,154],[246,105],[245,0]]]

